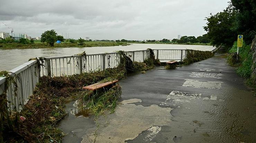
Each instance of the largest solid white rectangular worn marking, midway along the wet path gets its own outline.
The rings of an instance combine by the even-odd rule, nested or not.
[[[193,79],[185,79],[184,87],[220,89],[222,82],[219,81],[199,81]]]

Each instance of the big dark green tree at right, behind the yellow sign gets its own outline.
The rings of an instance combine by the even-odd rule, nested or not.
[[[233,22],[236,20],[236,12],[233,11],[231,5],[223,12],[215,15],[210,14],[207,17],[207,25],[204,30],[214,46],[231,47],[236,41],[237,33],[234,31]]]

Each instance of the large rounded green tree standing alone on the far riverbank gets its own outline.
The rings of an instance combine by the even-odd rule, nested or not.
[[[57,41],[57,33],[52,29],[45,31],[41,35],[41,42],[46,42],[50,46],[54,46],[54,43]]]

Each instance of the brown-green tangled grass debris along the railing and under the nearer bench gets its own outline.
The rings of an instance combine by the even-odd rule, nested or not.
[[[120,51],[120,53],[124,52]],[[123,54],[121,59],[122,62],[118,67],[103,71],[72,76],[40,77],[33,95],[29,97],[20,112],[8,112],[6,92],[2,94],[0,103],[1,109],[4,110],[0,111],[1,142],[61,142],[65,134],[57,126],[67,115],[65,111],[67,100],[80,99],[83,101],[82,104],[85,103],[82,107],[89,109],[95,116],[102,115],[106,111],[114,112],[121,95],[119,85],[113,86],[106,92],[99,92],[90,99],[88,97],[91,92],[85,92],[82,96],[78,96],[77,93],[82,91],[82,87],[99,81],[120,80],[126,78],[129,72],[152,69],[155,62],[153,59],[148,59],[145,63],[134,63]],[[1,72],[0,75],[8,76],[6,72]],[[21,121],[19,119],[21,116],[26,119]]]

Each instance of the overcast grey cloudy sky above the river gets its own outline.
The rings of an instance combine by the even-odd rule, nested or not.
[[[0,31],[40,36],[54,29],[77,39],[173,39],[200,36],[205,17],[228,0],[0,0]]]

